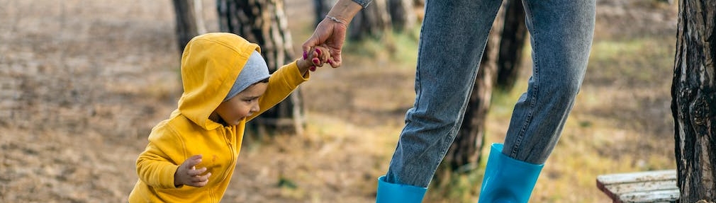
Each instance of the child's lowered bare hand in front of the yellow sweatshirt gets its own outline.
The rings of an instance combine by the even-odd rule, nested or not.
[[[201,163],[201,155],[194,155],[186,159],[174,172],[174,185],[180,187],[188,185],[192,187],[204,187],[209,182],[211,173],[201,175],[206,172],[206,167],[196,169],[196,165]]]

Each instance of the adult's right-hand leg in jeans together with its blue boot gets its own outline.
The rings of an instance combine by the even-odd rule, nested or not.
[[[502,144],[493,144],[479,202],[528,202],[584,79],[594,0],[523,0],[533,75]]]

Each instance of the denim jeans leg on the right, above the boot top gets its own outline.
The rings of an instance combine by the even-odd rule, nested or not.
[[[543,164],[562,132],[586,71],[594,0],[523,0],[533,75],[515,105],[503,154]]]

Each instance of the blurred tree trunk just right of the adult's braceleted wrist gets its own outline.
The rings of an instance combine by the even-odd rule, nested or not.
[[[384,31],[389,29],[390,15],[386,0],[374,0],[353,17],[348,29],[348,38],[353,40],[361,40],[369,36],[380,38]]]

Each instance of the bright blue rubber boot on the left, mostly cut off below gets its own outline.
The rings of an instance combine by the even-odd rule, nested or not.
[[[412,203],[422,202],[427,187],[417,187],[408,184],[392,184],[385,182],[385,176],[378,178],[378,192],[376,203]]]

